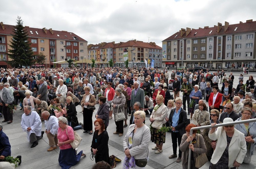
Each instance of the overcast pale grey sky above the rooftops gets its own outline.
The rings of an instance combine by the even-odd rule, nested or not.
[[[88,41],[156,42],[186,27],[256,20],[255,0],[9,0],[1,3],[0,22],[73,32]]]

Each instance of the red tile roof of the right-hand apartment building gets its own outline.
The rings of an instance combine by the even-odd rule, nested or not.
[[[245,23],[238,23],[238,24],[231,24],[228,26],[228,29],[226,32],[224,32],[225,25],[221,26],[221,30],[219,33],[217,33],[218,26],[214,27],[207,27],[207,28],[200,28],[200,29],[191,29],[191,32],[186,36],[186,32],[181,37],[181,31],[176,32],[172,36],[168,37],[167,39],[163,41],[170,41],[170,40],[176,40],[176,39],[191,39],[191,38],[201,38],[201,37],[212,37],[212,36],[222,36],[222,35],[232,35],[232,34],[241,34],[246,32],[255,32],[256,31],[256,21],[247,21]],[[237,27],[237,30],[235,28]],[[210,31],[212,31],[211,34]],[[196,35],[195,35],[196,33]],[[176,36],[177,35],[177,36]],[[176,37],[175,37],[176,36]]]

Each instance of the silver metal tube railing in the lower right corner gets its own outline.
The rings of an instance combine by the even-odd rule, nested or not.
[[[243,123],[251,123],[251,122],[256,122],[256,118],[253,119],[248,119],[248,120],[240,120],[240,121],[233,121],[229,123],[222,123],[222,124],[216,124],[214,127],[221,127],[221,126],[229,126],[229,125],[237,125],[237,124],[243,124]],[[213,126],[208,125],[208,126],[200,126],[200,127],[193,127],[190,129],[190,135],[192,135],[193,130],[198,130],[198,129],[209,129],[212,128]],[[192,144],[192,140],[190,141],[190,144]],[[191,159],[191,149],[188,151],[188,159]],[[188,169],[190,169],[190,160],[188,160]]]

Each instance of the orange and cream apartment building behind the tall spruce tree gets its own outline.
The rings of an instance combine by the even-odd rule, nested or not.
[[[0,25],[0,67],[9,68],[10,65],[5,61],[9,61],[8,49],[15,28],[14,25],[6,25],[3,22],[0,22]],[[53,62],[57,62],[57,67],[66,67],[65,59],[80,60],[87,56],[87,41],[72,32],[29,26],[25,26],[25,30],[28,32],[28,41],[31,42],[35,59],[40,52],[46,56],[45,65],[35,63],[32,67],[53,68]]]

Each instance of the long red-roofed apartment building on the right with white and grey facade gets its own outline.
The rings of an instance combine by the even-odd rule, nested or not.
[[[255,69],[255,32],[253,20],[181,29],[162,41],[163,63],[169,67]]]

